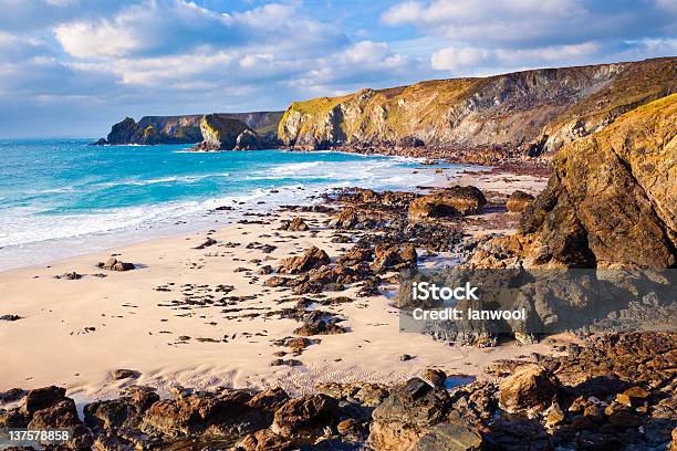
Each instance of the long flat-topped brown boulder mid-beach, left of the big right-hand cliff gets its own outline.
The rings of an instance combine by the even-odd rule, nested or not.
[[[425,220],[478,213],[487,203],[476,187],[450,187],[420,196],[409,204],[409,219]]]

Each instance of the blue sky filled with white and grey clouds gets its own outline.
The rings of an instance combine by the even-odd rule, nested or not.
[[[0,0],[0,138],[677,55],[677,0]]]

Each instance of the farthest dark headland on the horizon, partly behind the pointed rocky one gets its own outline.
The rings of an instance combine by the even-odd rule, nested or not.
[[[220,113],[219,116],[244,123],[261,137],[274,136],[282,112]],[[137,123],[127,117],[113,125],[106,139],[96,144],[194,144],[202,140],[202,115],[144,116]]]

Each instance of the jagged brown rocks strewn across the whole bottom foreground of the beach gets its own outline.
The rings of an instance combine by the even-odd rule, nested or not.
[[[159,399],[128,386],[85,405],[84,423],[63,388],[15,389],[23,399],[0,408],[0,427],[72,429],[58,448],[76,450],[665,450],[677,428],[676,338],[597,336],[538,365],[500,360],[450,389],[444,374],[389,387],[325,382],[291,399],[279,388]]]

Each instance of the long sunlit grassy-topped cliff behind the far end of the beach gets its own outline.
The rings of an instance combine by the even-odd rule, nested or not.
[[[554,153],[677,92],[677,59],[438,80],[294,102],[278,136],[299,148],[423,141]]]

